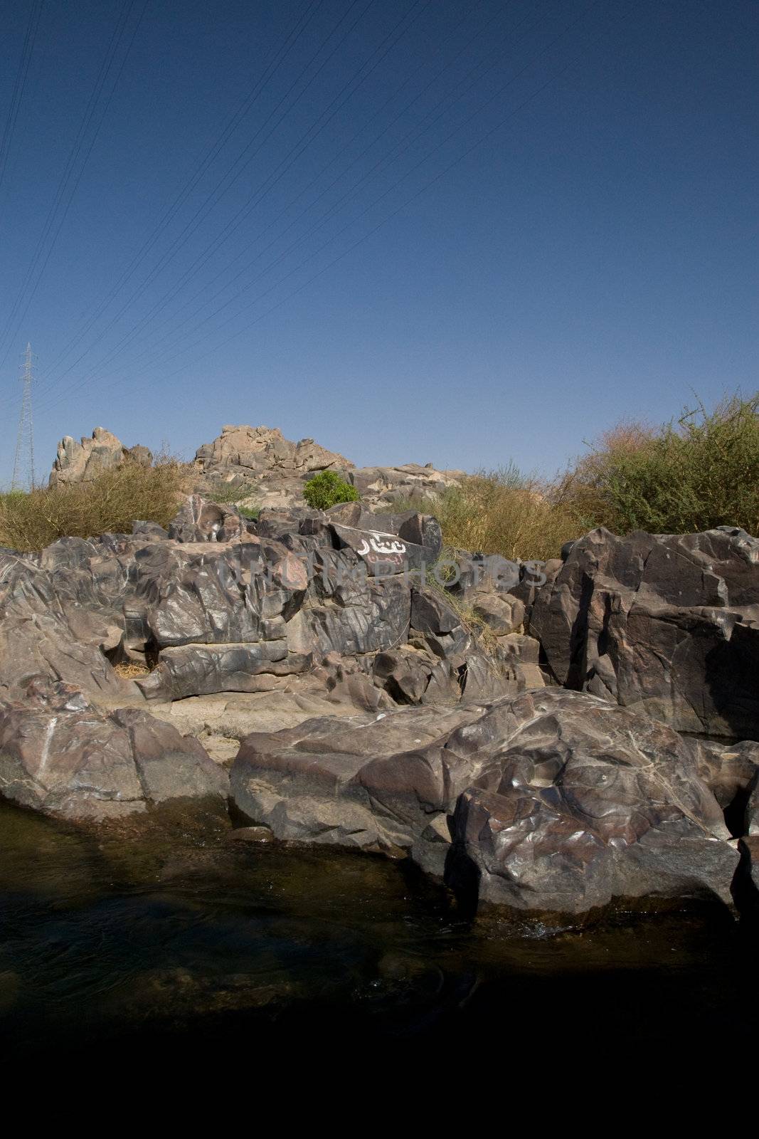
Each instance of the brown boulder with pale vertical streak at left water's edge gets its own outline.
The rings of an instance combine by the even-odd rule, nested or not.
[[[22,806],[99,821],[176,798],[224,798],[226,772],[197,739],[138,708],[104,715],[63,683],[0,703],[0,790]]]

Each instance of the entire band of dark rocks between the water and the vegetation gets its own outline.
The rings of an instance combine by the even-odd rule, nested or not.
[[[88,826],[213,802],[472,909],[756,912],[759,540],[596,530],[436,581],[440,552],[415,510],[198,493],[0,551],[0,794]]]

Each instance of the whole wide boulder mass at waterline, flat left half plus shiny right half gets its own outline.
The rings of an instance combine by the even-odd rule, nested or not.
[[[530,912],[729,902],[737,854],[693,741],[556,689],[248,737],[231,794],[280,838],[411,852]]]

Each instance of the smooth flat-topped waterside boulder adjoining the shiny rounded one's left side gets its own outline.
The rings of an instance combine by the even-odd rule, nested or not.
[[[423,836],[439,849],[431,861],[442,874],[449,793],[440,753],[481,714],[478,705],[410,707],[253,734],[232,764],[232,800],[283,839],[397,854]]]

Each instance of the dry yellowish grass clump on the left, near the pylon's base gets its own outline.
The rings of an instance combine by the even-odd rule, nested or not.
[[[135,519],[165,526],[188,490],[187,467],[159,457],[124,462],[90,483],[0,495],[0,546],[38,551],[59,538],[131,533]]]

